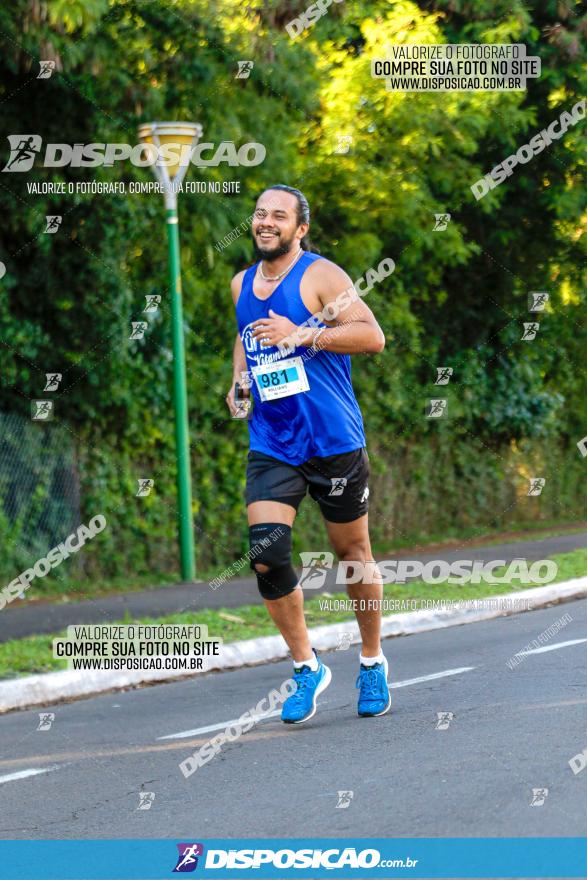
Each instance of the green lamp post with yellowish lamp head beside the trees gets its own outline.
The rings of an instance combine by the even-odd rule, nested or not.
[[[194,580],[194,530],[192,520],[192,489],[186,389],[183,309],[179,261],[179,229],[177,188],[185,177],[191,150],[202,135],[202,126],[193,122],[148,122],[139,126],[139,140],[153,144],[168,157],[152,165],[162,184],[167,217],[169,245],[169,297],[171,299],[171,332],[173,340],[173,400],[175,408],[175,446],[177,457],[177,493],[181,576]],[[172,145],[173,149],[169,149]]]

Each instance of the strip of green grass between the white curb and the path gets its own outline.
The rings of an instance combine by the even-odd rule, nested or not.
[[[587,549],[574,550],[572,553],[561,553],[552,557],[558,565],[558,573],[552,583],[583,577],[587,574]],[[505,566],[496,571],[500,576],[505,571]],[[412,581],[409,584],[385,584],[384,596],[386,599],[399,600],[426,600],[443,599],[467,600],[484,599],[491,596],[499,596],[504,593],[513,593],[516,590],[531,589],[535,584],[520,583],[519,580],[511,584],[424,584],[421,581]],[[353,620],[352,611],[331,611],[321,608],[322,597],[311,598],[306,593],[305,612],[309,626],[321,626],[328,623],[341,623]],[[345,599],[345,593],[331,595],[331,599]],[[388,613],[388,612],[385,612]],[[241,622],[226,620],[221,615],[237,616]],[[165,617],[143,617],[134,620],[129,614],[119,623],[199,623],[208,627],[211,636],[222,638],[225,644],[239,641],[240,639],[252,639],[259,636],[276,635],[277,630],[270,620],[263,605],[244,605],[240,608],[204,609],[202,611],[186,611],[181,614],[169,614]],[[64,635],[65,630],[55,635]],[[0,644],[0,679],[15,678],[34,673],[54,672],[67,668],[65,660],[53,657],[53,638],[55,635],[29,636],[25,639],[14,639]]]

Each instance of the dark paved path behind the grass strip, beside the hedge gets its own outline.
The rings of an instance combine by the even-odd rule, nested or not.
[[[402,550],[389,554],[387,558],[414,559],[423,563],[438,559],[449,563],[457,559],[482,559],[485,562],[503,559],[509,563],[512,559],[522,558],[530,563],[537,559],[550,559],[556,553],[569,553],[584,547],[587,547],[587,532],[490,545],[474,546],[465,543],[429,552]],[[247,571],[246,568],[242,570]],[[325,590],[345,592],[344,586],[336,586],[334,571],[329,573],[324,586],[320,590],[313,590],[312,595]],[[136,619],[197,611],[201,608],[238,608],[240,605],[261,604],[257,580],[250,576],[230,578],[216,590],[211,589],[208,582],[177,584],[67,604],[29,601],[35,598],[33,581],[33,587],[26,595],[29,599],[13,602],[0,613],[0,642],[29,635],[55,633],[69,625],[120,621],[125,614]]]

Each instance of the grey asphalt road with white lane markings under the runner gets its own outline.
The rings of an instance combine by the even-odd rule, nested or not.
[[[508,668],[565,614],[549,650]],[[288,662],[53,706],[46,731],[38,710],[2,716],[0,837],[587,834],[587,769],[568,763],[587,748],[587,600],[384,650],[388,715],[356,715],[356,648],[325,654],[333,681],[314,719],[262,721],[188,779],[179,762],[279,687]],[[448,729],[438,712],[453,713]]]

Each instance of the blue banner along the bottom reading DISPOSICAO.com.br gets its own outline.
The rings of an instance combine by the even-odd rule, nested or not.
[[[587,838],[0,841],[1,880],[587,877]]]

